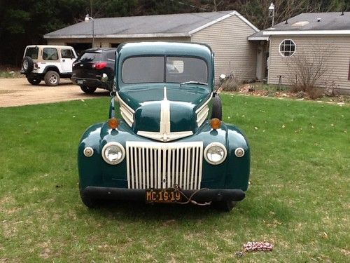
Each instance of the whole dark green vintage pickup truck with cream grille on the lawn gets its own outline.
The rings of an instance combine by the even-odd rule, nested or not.
[[[125,43],[116,50],[115,72],[109,120],[87,128],[78,147],[83,203],[232,210],[248,188],[250,149],[237,127],[221,121],[211,48]]]

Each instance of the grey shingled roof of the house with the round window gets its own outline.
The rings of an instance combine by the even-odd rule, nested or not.
[[[350,34],[350,12],[301,13],[263,34]]]

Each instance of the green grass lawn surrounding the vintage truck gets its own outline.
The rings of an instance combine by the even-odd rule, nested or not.
[[[222,95],[251,186],[232,213],[78,194],[80,135],[109,98],[0,109],[0,262],[349,262],[350,107]],[[347,234],[346,234],[347,233]],[[237,257],[248,241],[272,252]]]

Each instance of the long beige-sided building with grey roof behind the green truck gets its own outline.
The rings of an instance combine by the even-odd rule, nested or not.
[[[92,30],[93,27],[93,30]],[[248,36],[259,32],[237,11],[95,18],[44,35],[50,45],[68,45],[76,50],[94,46],[116,47],[134,41],[188,41],[207,43],[215,53],[216,79],[234,74],[241,80],[257,75],[257,43]]]

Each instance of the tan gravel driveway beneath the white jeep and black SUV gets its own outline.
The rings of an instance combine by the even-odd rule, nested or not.
[[[0,107],[91,99],[102,96],[109,96],[109,92],[98,88],[94,94],[87,95],[80,90],[79,86],[73,85],[66,79],[61,79],[60,84],[55,87],[45,86],[44,82],[39,86],[33,86],[25,78],[0,79]]]

